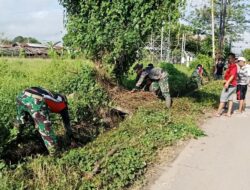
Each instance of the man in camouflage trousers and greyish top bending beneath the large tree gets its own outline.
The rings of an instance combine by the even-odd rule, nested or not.
[[[151,68],[143,70],[141,67],[135,66],[135,71],[140,74],[140,78],[136,83],[135,88],[131,92],[135,92],[140,89],[146,78],[149,78],[152,83],[149,87],[149,91],[157,93],[160,91],[165,98],[166,106],[171,107],[171,97],[169,93],[168,85],[168,73],[161,68]]]

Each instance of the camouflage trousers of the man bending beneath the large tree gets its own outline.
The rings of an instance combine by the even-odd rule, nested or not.
[[[162,96],[166,99],[168,97],[170,97],[170,93],[169,93],[169,85],[168,85],[168,77],[164,77],[162,79],[160,79],[159,81],[154,81],[151,83],[150,87],[149,87],[149,91],[151,92],[156,92],[157,91],[161,91]]]

